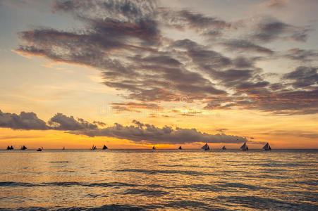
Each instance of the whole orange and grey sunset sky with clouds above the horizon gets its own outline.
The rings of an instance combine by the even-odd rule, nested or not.
[[[317,11],[0,0],[0,148],[318,148]]]

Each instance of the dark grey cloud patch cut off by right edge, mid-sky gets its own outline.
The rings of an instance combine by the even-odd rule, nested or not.
[[[283,75],[283,79],[293,80],[292,84],[295,88],[310,87],[318,84],[317,70],[318,68],[300,66],[293,72]]]

